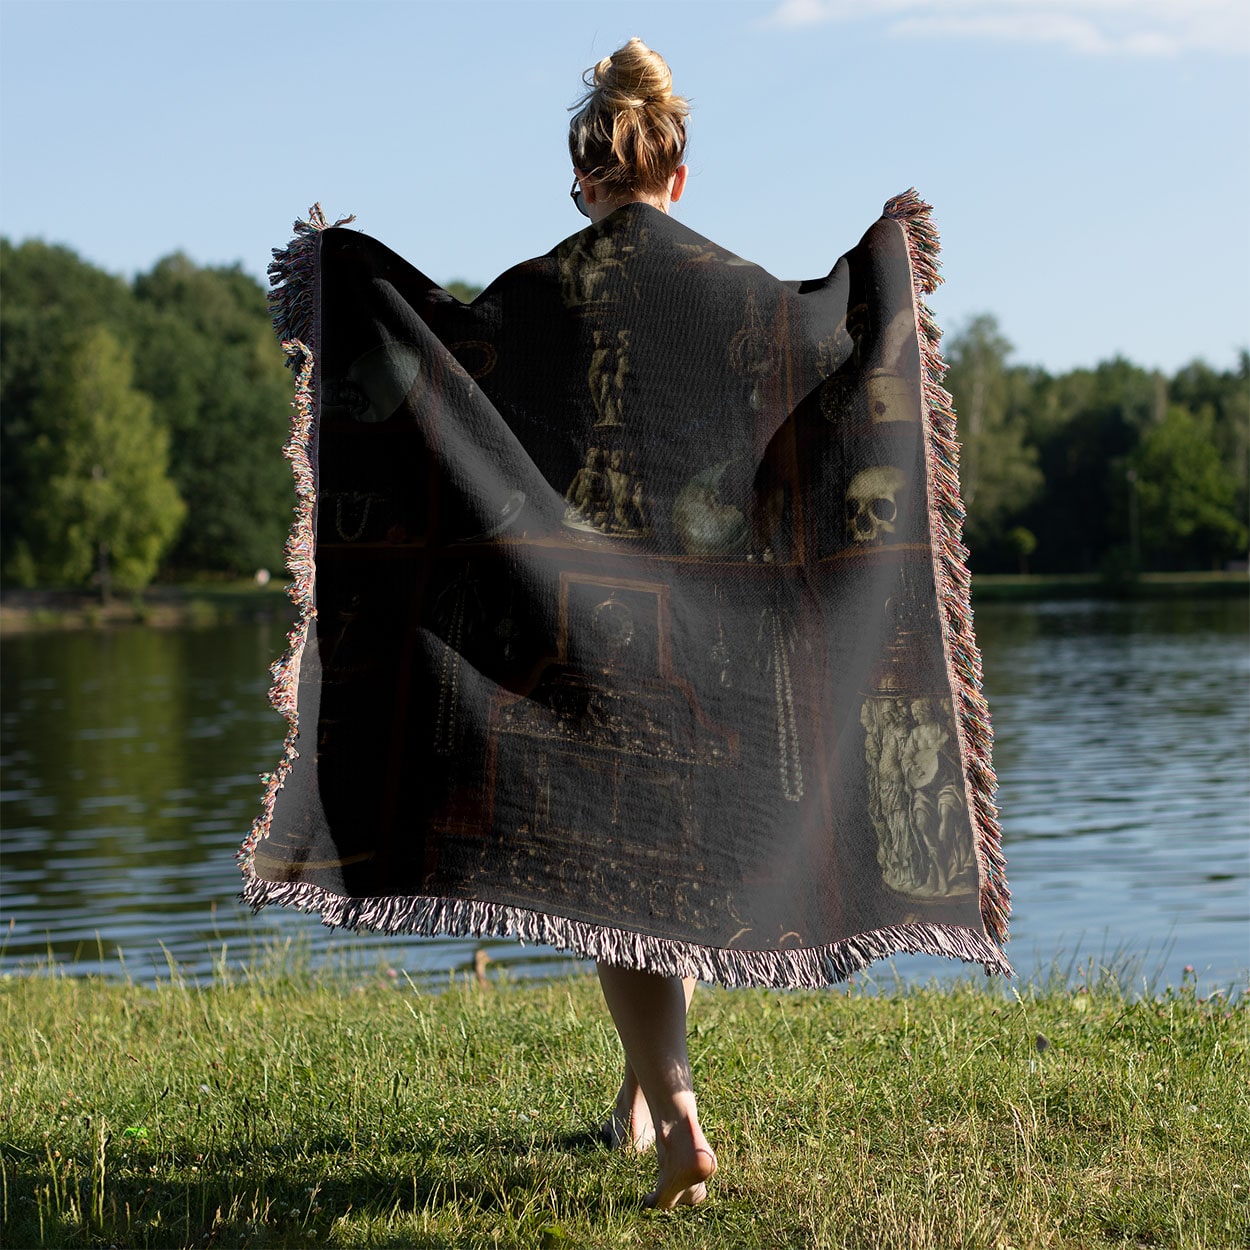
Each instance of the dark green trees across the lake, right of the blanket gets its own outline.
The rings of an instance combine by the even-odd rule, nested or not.
[[[1048,374],[1011,364],[979,316],[946,346],[965,541],[980,571],[1219,569],[1244,560],[1250,352],[1171,378],[1122,358]]]

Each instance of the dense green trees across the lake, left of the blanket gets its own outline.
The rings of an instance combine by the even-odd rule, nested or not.
[[[0,240],[0,290],[6,582],[280,565],[291,384],[255,279],[174,255],[128,282]]]

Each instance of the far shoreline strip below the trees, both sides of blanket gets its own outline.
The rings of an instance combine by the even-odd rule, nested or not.
[[[978,574],[972,605],[1056,599],[1236,599],[1250,595],[1245,572],[1146,572],[1109,581],[1099,574]],[[241,621],[295,620],[285,584],[271,581],[181,582],[150,586],[109,605],[82,590],[0,591],[0,638],[61,630],[208,628]]]

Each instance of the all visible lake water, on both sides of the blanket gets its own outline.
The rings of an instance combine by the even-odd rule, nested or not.
[[[1245,988],[1248,612],[1245,599],[978,610],[1022,976],[1092,958]],[[480,945],[514,976],[576,966],[509,941],[330,934],[238,904],[234,854],[280,748],[265,689],[282,636],[270,621],[5,641],[0,970],[51,959],[136,981],[171,964],[208,978],[286,941],[381,975],[445,976]]]

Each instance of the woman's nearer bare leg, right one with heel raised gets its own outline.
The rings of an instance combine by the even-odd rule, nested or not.
[[[599,965],[599,984],[651,1112],[660,1176],[648,1206],[694,1206],[708,1196],[716,1156],[699,1126],[686,1052],[686,988],[679,976]]]

